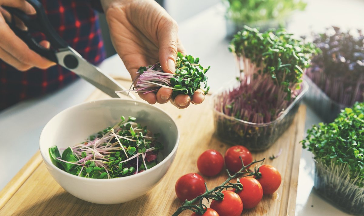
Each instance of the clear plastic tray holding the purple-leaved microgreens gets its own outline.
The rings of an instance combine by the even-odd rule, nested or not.
[[[339,115],[341,109],[348,107],[330,99],[310,78],[305,77],[304,80],[309,86],[309,91],[304,100],[325,123],[333,122]]]

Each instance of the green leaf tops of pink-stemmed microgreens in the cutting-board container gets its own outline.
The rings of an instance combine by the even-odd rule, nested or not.
[[[312,43],[296,39],[284,29],[261,33],[248,26],[234,35],[229,49],[238,58],[249,59],[252,66],[259,68],[258,74],[268,74],[287,93],[286,100],[291,99],[302,82],[304,69],[309,66],[312,54],[317,52]]]

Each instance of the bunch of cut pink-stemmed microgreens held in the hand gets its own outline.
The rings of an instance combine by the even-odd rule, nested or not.
[[[158,92],[162,87],[173,89],[172,96],[185,94],[192,97],[194,92],[201,88],[201,82],[205,84],[202,90],[205,95],[209,92],[207,76],[205,75],[210,66],[203,68],[199,58],[191,55],[182,55],[178,52],[176,58],[176,70],[174,74],[163,72],[159,62],[148,67],[140,67],[137,74],[137,84],[133,89],[117,92],[135,91],[138,93]]]

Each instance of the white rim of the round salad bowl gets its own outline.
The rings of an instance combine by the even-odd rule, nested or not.
[[[171,151],[171,153],[169,153],[167,155],[167,157],[165,157],[161,162],[157,163],[157,165],[151,167],[150,169],[148,170],[145,170],[145,171],[142,171],[140,173],[137,173],[137,174],[134,174],[134,175],[129,175],[129,176],[124,176],[124,177],[119,177],[119,178],[84,178],[84,177],[79,177],[77,175],[72,175],[70,173],[67,173],[66,171],[64,170],[61,170],[59,169],[58,167],[56,167],[53,163],[50,163],[49,161],[46,160],[46,157],[49,157],[49,155],[43,155],[43,152],[41,151],[41,147],[40,147],[40,139],[44,133],[44,129],[48,126],[48,124],[50,124],[50,121],[52,121],[52,119],[54,119],[56,116],[59,116],[59,115],[62,115],[63,113],[65,112],[68,112],[70,109],[74,109],[76,107],[79,107],[79,106],[82,106],[82,105],[85,105],[85,104],[91,104],[91,103],[98,103],[98,102],[101,102],[101,101],[111,101],[111,100],[119,100],[119,101],[131,101],[131,102],[135,102],[135,103],[141,103],[141,104],[144,104],[146,105],[147,107],[149,108],[152,108],[152,109],[157,109],[158,111],[161,111],[162,113],[164,113],[165,115],[167,115],[173,122],[174,126],[176,127],[177,129],[177,140],[176,140],[176,143]],[[143,175],[147,175],[149,174],[151,171],[150,170],[155,170],[157,169],[158,167],[162,166],[164,163],[166,163],[167,161],[170,160],[170,158],[177,152],[177,149],[178,149],[178,144],[179,144],[179,138],[180,138],[180,132],[179,132],[179,129],[177,127],[177,124],[175,123],[175,121],[173,120],[173,118],[168,114],[166,113],[165,111],[163,111],[163,109],[161,108],[158,108],[158,107],[155,107],[151,104],[148,104],[144,101],[139,101],[139,100],[133,100],[133,99],[122,99],[122,98],[109,98],[109,99],[99,99],[99,100],[92,100],[92,101],[86,101],[86,102],[83,102],[83,103],[80,103],[80,104],[76,104],[76,105],[73,105],[71,107],[68,107],[66,109],[64,109],[63,111],[57,113],[55,116],[53,116],[48,122],[46,125],[44,125],[42,131],[40,132],[40,135],[39,135],[39,141],[38,141],[38,147],[39,147],[39,151],[40,151],[40,154],[41,154],[41,157],[43,159],[43,162],[44,163],[47,163],[48,165],[52,166],[55,170],[57,170],[59,173],[63,174],[63,175],[66,175],[66,176],[69,176],[71,178],[75,178],[76,180],[81,180],[81,181],[95,181],[95,182],[98,182],[98,181],[107,181],[107,182],[111,182],[111,181],[122,181],[122,180],[129,180],[129,179],[132,179],[132,178],[137,178],[137,177],[141,177]],[[48,151],[47,151],[48,152]],[[155,168],[155,169],[154,169]],[[49,170],[48,170],[49,171]]]

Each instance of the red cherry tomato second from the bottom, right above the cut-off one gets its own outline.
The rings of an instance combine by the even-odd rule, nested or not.
[[[211,201],[210,208],[214,209],[220,216],[240,216],[243,211],[243,202],[238,194],[231,190],[222,192],[222,201]]]

